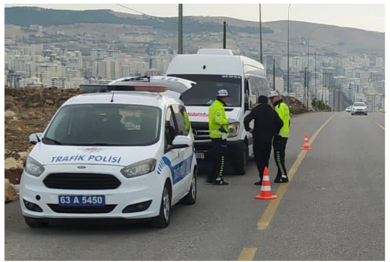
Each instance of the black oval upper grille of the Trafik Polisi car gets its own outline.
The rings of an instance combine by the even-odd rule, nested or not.
[[[53,173],[43,183],[58,189],[114,189],[120,185],[113,175],[90,173]]]

